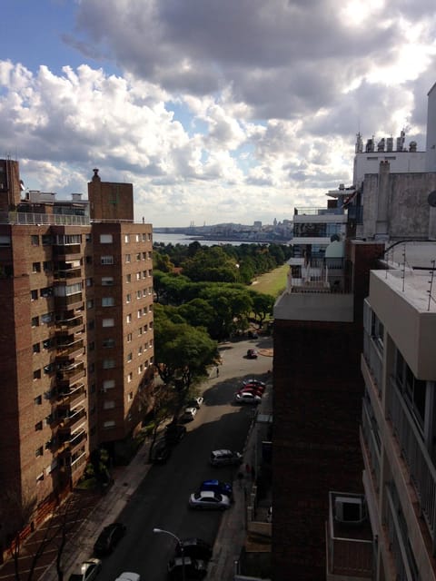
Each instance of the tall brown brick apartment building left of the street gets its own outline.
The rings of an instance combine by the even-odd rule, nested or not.
[[[133,186],[24,192],[0,160],[0,555],[81,477],[89,454],[116,458],[153,383],[152,225]]]

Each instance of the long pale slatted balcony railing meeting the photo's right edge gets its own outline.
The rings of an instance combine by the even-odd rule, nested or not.
[[[436,547],[436,469],[420,430],[408,409],[395,380],[391,378],[387,391],[387,411],[393,433],[398,439],[402,456],[410,470],[413,485],[421,504],[421,513]]]

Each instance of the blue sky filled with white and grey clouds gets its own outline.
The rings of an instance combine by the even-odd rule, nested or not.
[[[154,227],[292,220],[356,133],[425,149],[434,0],[1,0],[0,157],[25,188],[134,185]]]

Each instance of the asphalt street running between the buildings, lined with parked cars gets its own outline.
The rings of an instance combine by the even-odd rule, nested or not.
[[[246,358],[249,348],[260,351],[258,359]],[[154,534],[154,527],[171,531],[176,537],[202,537],[209,541],[214,545],[210,568],[215,571],[210,578],[218,578],[218,567],[221,567],[220,578],[225,578],[223,568],[232,567],[232,563],[225,562],[223,520],[229,533],[232,520],[236,521],[238,530],[243,528],[241,507],[233,506],[224,515],[221,511],[198,512],[188,507],[188,498],[207,478],[220,478],[236,484],[237,468],[212,468],[209,455],[216,448],[243,451],[246,447],[254,410],[250,405],[234,405],[233,394],[242,379],[252,375],[262,379],[270,377],[271,348],[271,338],[220,345],[222,364],[211,369],[210,379],[202,386],[203,406],[195,419],[186,424],[186,437],[174,448],[171,458],[163,466],[148,464],[148,448],[144,445],[128,467],[116,468],[114,486],[95,503],[64,550],[66,579],[84,558],[92,555],[98,533],[114,520],[127,525],[127,534],[113,555],[104,558],[99,581],[113,580],[126,570],[140,573],[147,581],[163,581],[166,564],[173,556],[175,540],[169,535]],[[232,543],[230,550],[234,552]],[[25,568],[24,563],[23,566]],[[1,567],[0,581],[14,579],[11,573],[7,564]],[[38,571],[34,578],[54,581],[57,578],[54,566],[42,575]]]

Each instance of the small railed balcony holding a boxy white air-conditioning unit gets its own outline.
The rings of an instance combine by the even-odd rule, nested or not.
[[[362,495],[329,493],[325,537],[327,581],[371,581],[372,528]]]

